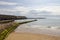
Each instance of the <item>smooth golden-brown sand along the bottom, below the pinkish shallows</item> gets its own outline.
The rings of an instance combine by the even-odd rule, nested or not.
[[[60,37],[27,32],[12,32],[5,40],[60,40]]]

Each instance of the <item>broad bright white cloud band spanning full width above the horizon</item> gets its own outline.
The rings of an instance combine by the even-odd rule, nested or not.
[[[60,15],[59,8],[60,6],[44,6],[31,9],[29,7],[16,6],[13,9],[0,9],[0,14],[45,17],[45,15]]]

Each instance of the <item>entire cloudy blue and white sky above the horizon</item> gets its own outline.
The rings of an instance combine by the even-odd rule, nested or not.
[[[60,15],[60,0],[0,0],[0,14],[27,17]]]

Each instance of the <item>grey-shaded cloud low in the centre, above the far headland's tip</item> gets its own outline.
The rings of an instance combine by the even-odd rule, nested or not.
[[[30,10],[26,16],[28,17],[45,17],[47,15],[51,15],[52,12],[50,11],[37,11],[37,10]]]

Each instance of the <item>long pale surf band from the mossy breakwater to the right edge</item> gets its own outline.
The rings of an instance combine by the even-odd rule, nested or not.
[[[36,28],[36,29],[60,29],[60,26],[45,26],[45,25],[21,25],[20,28]]]

